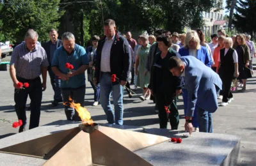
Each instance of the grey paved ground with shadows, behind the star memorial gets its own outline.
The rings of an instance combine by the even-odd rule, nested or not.
[[[17,121],[13,102],[13,83],[9,72],[0,72],[0,139],[17,133],[17,129],[12,128],[12,122]],[[52,89],[47,78],[47,89],[43,93],[42,111],[40,125],[66,119],[63,105],[51,107]],[[85,107],[92,114],[92,119],[97,123],[106,123],[106,116],[101,106],[92,107],[93,90],[90,83],[86,82]],[[220,107],[214,113],[213,132],[226,133],[230,135],[241,135],[241,158],[239,165],[256,165],[256,77],[248,80],[247,90],[234,94],[234,101],[226,106]],[[136,91],[140,94],[142,91]],[[139,95],[138,95],[139,96]],[[128,98],[125,92],[124,98],[124,124],[133,126],[147,126],[159,128],[158,116],[154,113],[154,103],[152,101],[141,102],[138,96]],[[221,102],[221,101],[219,101]],[[29,100],[28,102],[29,103]],[[184,111],[182,107],[182,97],[178,102],[180,113],[179,130],[184,130]],[[27,111],[29,117],[29,111]],[[29,118],[28,118],[29,119]],[[170,128],[170,124],[169,124]]]

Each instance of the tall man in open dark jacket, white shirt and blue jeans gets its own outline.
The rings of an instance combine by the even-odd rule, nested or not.
[[[100,83],[100,103],[107,116],[109,124],[123,124],[124,86],[129,79],[131,70],[131,51],[128,41],[116,31],[115,21],[108,19],[104,22],[106,36],[99,41],[95,84]],[[115,74],[119,81],[111,82]],[[110,95],[113,94],[115,113],[113,112]]]

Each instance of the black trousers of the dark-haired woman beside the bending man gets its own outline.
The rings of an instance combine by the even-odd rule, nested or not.
[[[164,93],[156,93],[156,104],[158,107],[158,117],[160,128],[167,128],[168,118],[170,119],[170,124],[172,130],[177,130],[179,127],[179,112],[177,109],[177,97],[173,97],[173,101],[166,101],[166,95]],[[169,117],[164,109],[164,106],[167,106],[166,103],[171,103],[171,110]]]

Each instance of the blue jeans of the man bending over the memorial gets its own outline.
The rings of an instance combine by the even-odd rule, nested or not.
[[[198,108],[199,132],[212,133],[212,113]]]

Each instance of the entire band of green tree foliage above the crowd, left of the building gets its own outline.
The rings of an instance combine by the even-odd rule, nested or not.
[[[1,4],[1,33],[8,40],[23,40],[29,28],[35,29],[40,41],[60,24],[67,12],[74,26],[76,42],[84,45],[91,35],[103,35],[103,21],[113,19],[119,31],[167,29],[182,33],[185,27],[202,27],[202,11],[220,6],[216,0],[4,0]],[[220,2],[218,0],[218,2]],[[65,20],[65,17],[62,18]],[[1,26],[1,22],[0,22]]]

